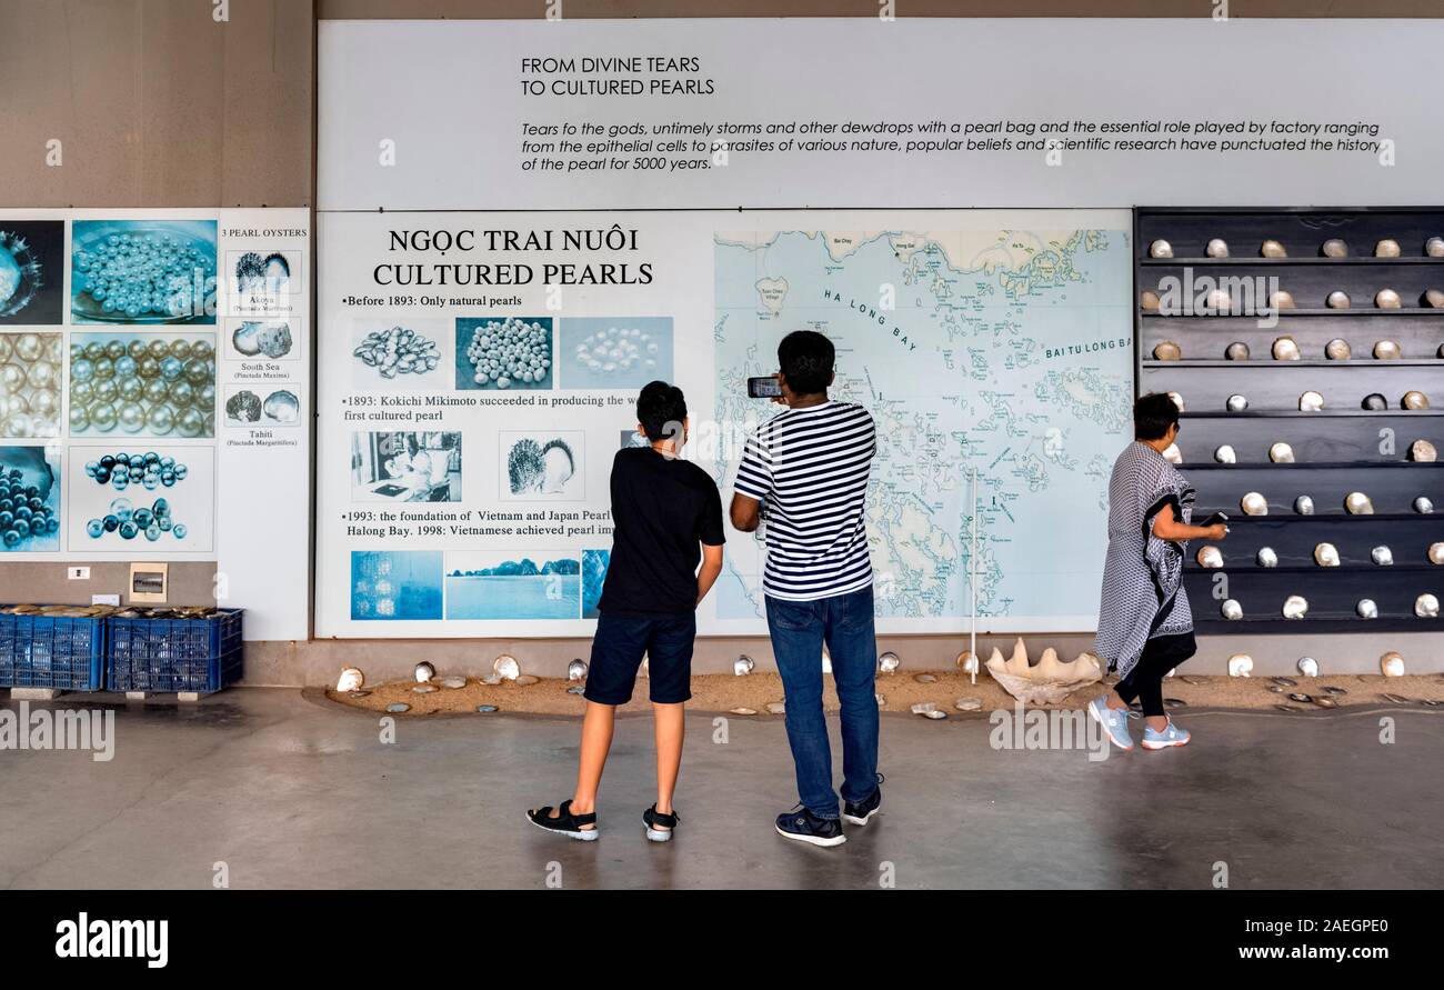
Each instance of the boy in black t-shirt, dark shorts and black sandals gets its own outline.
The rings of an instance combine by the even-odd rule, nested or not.
[[[622,448],[612,461],[612,558],[596,606],[576,793],[560,808],[527,812],[533,825],[583,841],[596,838],[596,788],[617,705],[631,701],[643,656],[657,720],[657,804],[643,812],[643,822],[647,838],[671,838],[696,608],[722,571],[722,499],[706,471],[677,457],[687,442],[682,389],[647,384],[637,397],[637,419],[651,445]]]

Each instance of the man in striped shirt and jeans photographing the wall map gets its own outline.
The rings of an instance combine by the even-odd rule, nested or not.
[[[787,692],[787,741],[800,798],[797,809],[778,815],[777,831],[813,845],[840,845],[846,837],[822,710],[825,643],[842,707],[842,817],[865,825],[882,804],[865,517],[877,441],[866,409],[827,397],[832,341],[799,330],[783,338],[777,358],[777,402],[787,409],[748,438],[732,525],[754,532],[765,523],[767,627]]]

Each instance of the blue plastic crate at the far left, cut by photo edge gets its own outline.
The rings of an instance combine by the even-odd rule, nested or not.
[[[0,613],[0,688],[101,691],[105,620]]]

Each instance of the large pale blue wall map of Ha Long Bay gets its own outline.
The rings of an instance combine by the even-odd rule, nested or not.
[[[817,330],[838,347],[832,396],[877,423],[879,630],[969,627],[973,471],[979,630],[1092,629],[1108,478],[1132,438],[1129,257],[1121,228],[715,234],[716,410],[734,438],[718,484],[735,438],[780,410],[747,379],[777,370],[787,332]],[[765,616],[764,541],[765,526],[729,542],[719,624]]]

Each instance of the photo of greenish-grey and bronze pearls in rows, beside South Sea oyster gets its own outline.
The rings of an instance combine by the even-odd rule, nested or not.
[[[71,435],[215,436],[215,338],[72,334]]]

